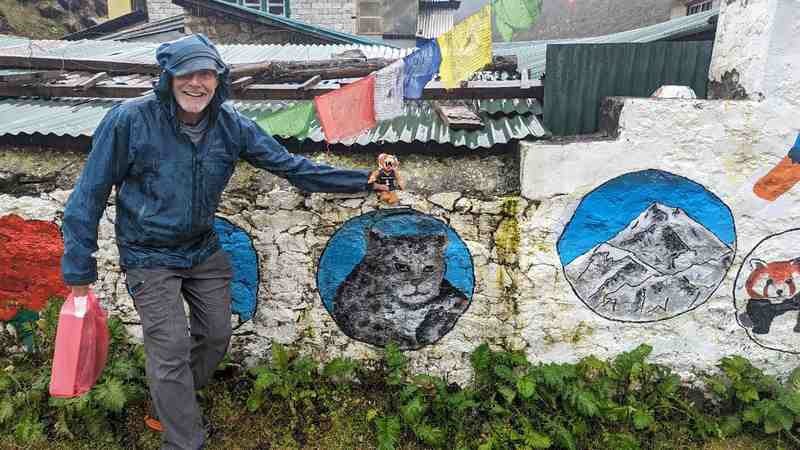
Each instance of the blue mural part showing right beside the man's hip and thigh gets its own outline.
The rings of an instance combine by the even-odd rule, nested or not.
[[[238,317],[239,326],[253,318],[258,306],[258,255],[250,235],[230,221],[217,217],[214,231],[231,258],[231,312]]]

